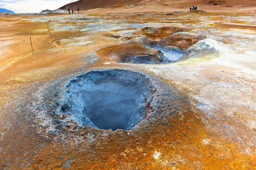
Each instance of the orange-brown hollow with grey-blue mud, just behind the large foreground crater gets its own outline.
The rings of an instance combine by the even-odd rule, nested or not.
[[[163,62],[163,53],[140,44],[127,44],[101,49],[97,52],[113,62],[159,64]]]

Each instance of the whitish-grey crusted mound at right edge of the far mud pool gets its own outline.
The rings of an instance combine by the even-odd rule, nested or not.
[[[201,57],[218,57],[220,55],[221,45],[212,39],[204,39],[189,47],[182,57],[182,60],[201,58]]]

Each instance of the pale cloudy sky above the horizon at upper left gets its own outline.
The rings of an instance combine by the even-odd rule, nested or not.
[[[45,9],[55,10],[77,0],[0,0],[0,8],[15,13],[38,13]]]

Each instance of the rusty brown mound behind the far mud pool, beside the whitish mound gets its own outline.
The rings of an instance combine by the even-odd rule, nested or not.
[[[160,44],[168,48],[181,48],[186,50],[198,41],[203,40],[205,37],[200,34],[193,34],[189,32],[179,32],[160,41]]]

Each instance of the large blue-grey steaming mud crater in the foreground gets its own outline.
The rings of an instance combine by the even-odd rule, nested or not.
[[[104,130],[131,130],[145,119],[156,91],[144,74],[119,69],[87,72],[66,87],[72,118]]]

